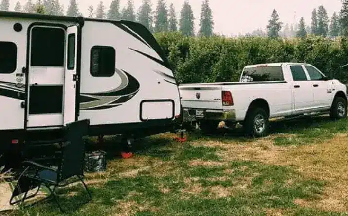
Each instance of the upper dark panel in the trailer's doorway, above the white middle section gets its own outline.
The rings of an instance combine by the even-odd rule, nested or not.
[[[61,28],[34,27],[31,66],[64,66],[65,32]]]

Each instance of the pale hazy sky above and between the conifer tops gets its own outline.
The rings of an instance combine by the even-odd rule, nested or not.
[[[16,0],[11,1],[11,9],[13,10]],[[19,0],[22,4],[26,0]],[[33,0],[34,2],[35,0]],[[112,0],[103,0],[107,8],[109,8]],[[127,0],[120,0],[123,7]],[[166,0],[167,5],[174,3],[177,16],[179,18],[180,9],[184,0]],[[189,0],[195,16],[196,32],[198,30],[202,0]],[[66,10],[69,0],[60,0],[64,4]],[[80,11],[87,16],[87,8],[93,5],[96,8],[99,0],[77,0]],[[136,10],[140,6],[142,0],[134,0]],[[152,7],[155,9],[157,0],[152,0]],[[214,16],[214,32],[230,36],[238,33],[252,32],[257,28],[265,28],[275,8],[284,23],[294,23],[295,14],[296,22],[300,17],[304,17],[306,24],[311,22],[311,11],[318,6],[323,5],[331,18],[334,11],[338,12],[341,8],[341,0],[210,0],[210,6]]]

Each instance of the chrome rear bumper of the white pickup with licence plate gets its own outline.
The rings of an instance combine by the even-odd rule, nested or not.
[[[236,111],[183,108],[183,121],[195,121],[201,119],[235,122]]]

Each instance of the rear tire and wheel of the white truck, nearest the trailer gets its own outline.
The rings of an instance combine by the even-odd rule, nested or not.
[[[263,137],[269,133],[269,116],[262,108],[250,110],[244,121],[244,131],[251,137]]]

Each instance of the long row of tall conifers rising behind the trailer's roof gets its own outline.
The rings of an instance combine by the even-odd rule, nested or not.
[[[9,7],[9,0],[1,0],[0,10],[8,11]],[[14,11],[72,17],[83,16],[76,0],[70,0],[66,13],[64,13],[64,5],[59,0],[37,0],[36,3],[33,3],[32,0],[27,0],[25,5],[21,5],[17,1]],[[124,8],[120,7],[120,0],[112,0],[109,8],[106,7],[103,1],[99,1],[96,8],[90,5],[88,12],[88,17],[90,18],[137,21],[147,27],[152,33],[180,31],[186,36],[208,37],[214,34],[213,12],[210,8],[209,0],[202,0],[201,17],[197,33],[195,31],[195,17],[188,0],[183,2],[179,19],[176,16],[174,5],[170,4],[167,7],[165,0],[158,0],[154,11],[152,11],[151,0],[143,0],[137,11],[133,0],[127,0]]]

